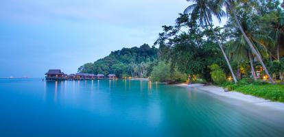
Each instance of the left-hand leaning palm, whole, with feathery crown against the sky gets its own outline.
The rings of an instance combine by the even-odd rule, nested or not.
[[[185,9],[185,14],[191,14],[191,19],[196,20],[196,16],[199,17],[199,22],[202,25],[206,25],[206,27],[210,27],[211,31],[214,34],[215,40],[217,41],[224,58],[226,60],[226,63],[228,64],[228,68],[230,69],[230,73],[232,74],[232,77],[234,79],[234,82],[237,83],[237,78],[235,77],[235,74],[233,72],[232,66],[230,65],[230,62],[227,58],[227,55],[223,49],[222,43],[218,40],[217,34],[215,33],[213,27],[212,27],[212,15],[216,16],[219,21],[221,21],[221,17],[225,15],[225,12],[222,10],[222,7],[220,5],[215,4],[211,0],[187,0],[187,1],[193,1],[195,2],[192,5],[189,5]]]

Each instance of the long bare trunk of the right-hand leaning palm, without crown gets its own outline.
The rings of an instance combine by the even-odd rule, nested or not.
[[[239,20],[237,19],[237,14],[235,12],[235,10],[230,7],[230,10],[233,12],[233,16],[234,16],[234,19],[237,23],[237,26],[239,27],[239,30],[241,31],[241,34],[243,34],[246,42],[248,42],[248,45],[250,46],[250,49],[252,49],[252,53],[254,53],[256,56],[257,56],[257,60],[259,60],[263,70],[265,71],[265,73],[268,75],[268,78],[269,78],[269,81],[272,83],[272,84],[275,84],[274,80],[272,79],[272,77],[270,76],[269,72],[268,72],[268,69],[266,69],[266,66],[265,64],[263,63],[262,59],[261,59],[261,56],[259,55],[259,53],[257,53],[257,50],[255,49],[255,47],[252,45],[252,42],[250,42],[250,39],[248,39],[248,36],[246,36],[246,33],[244,32],[244,29],[241,27],[241,24],[239,23]]]

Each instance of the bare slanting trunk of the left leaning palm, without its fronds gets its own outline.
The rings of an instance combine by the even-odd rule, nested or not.
[[[224,55],[224,58],[225,58],[225,60],[226,60],[226,63],[228,64],[228,68],[230,69],[230,73],[232,74],[232,77],[233,77],[233,79],[234,79],[234,82],[235,82],[235,84],[237,84],[237,78],[236,78],[236,76],[235,76],[235,74],[234,74],[234,71],[233,71],[233,69],[232,69],[232,66],[230,66],[230,62],[229,62],[229,60],[228,60],[228,58],[227,58],[227,55],[226,55],[226,53],[225,53],[225,51],[224,51],[224,49],[223,49],[223,46],[222,46],[222,44],[219,42],[219,40],[218,40],[218,38],[217,38],[217,35],[216,35],[216,33],[215,33],[213,27],[211,26],[211,23],[209,23],[209,18],[208,18],[208,16],[207,16],[206,14],[205,14],[205,16],[206,16],[206,22],[209,24],[209,26],[210,26],[210,28],[211,28],[213,34],[214,34],[215,40],[218,42],[218,45],[219,45],[219,47],[220,47],[220,49],[221,49],[221,51],[222,51],[222,53],[223,53],[223,55]]]

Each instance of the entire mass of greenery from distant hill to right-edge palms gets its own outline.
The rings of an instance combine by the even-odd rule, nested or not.
[[[155,48],[123,48],[81,66],[83,73],[204,82],[283,101],[284,3],[279,0],[187,0]],[[215,26],[216,21],[224,27]],[[250,79],[248,81],[248,79]]]

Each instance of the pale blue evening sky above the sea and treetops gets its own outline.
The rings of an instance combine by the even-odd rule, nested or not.
[[[0,1],[0,77],[76,73],[122,47],[153,45],[186,0]]]

